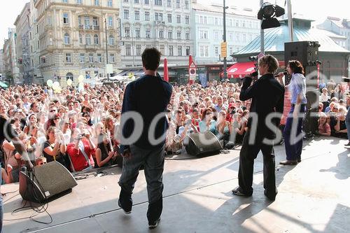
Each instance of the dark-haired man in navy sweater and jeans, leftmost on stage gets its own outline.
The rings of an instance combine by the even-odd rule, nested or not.
[[[162,174],[165,161],[165,132],[168,128],[165,111],[172,96],[172,86],[157,76],[160,55],[156,48],[146,48],[142,53],[145,73],[144,76],[127,85],[125,89],[120,125],[123,136],[120,146],[123,170],[119,179],[121,190],[118,205],[125,213],[131,213],[132,190],[134,190],[139,169],[141,165],[144,165],[148,192],[149,228],[157,227],[162,213]],[[138,130],[136,127],[138,122],[127,120],[125,115],[125,113],[132,114],[132,112],[141,115],[143,129],[141,129],[141,136],[138,135],[139,139],[130,144],[127,139],[134,130]],[[160,116],[162,113],[164,116]],[[151,124],[153,120],[157,122],[155,125]],[[153,142],[152,138],[158,143]]]

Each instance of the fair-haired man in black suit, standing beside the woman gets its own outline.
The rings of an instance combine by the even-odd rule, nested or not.
[[[274,200],[277,194],[274,174],[274,148],[273,141],[276,130],[267,125],[267,116],[283,112],[284,87],[274,78],[274,72],[279,64],[276,58],[266,55],[259,59],[259,73],[262,75],[251,85],[252,78],[244,78],[239,99],[251,101],[251,113],[248,119],[248,131],[243,139],[241,153],[239,154],[239,187],[232,190],[234,195],[253,195],[253,165],[259,151],[262,151],[264,160],[264,188],[265,196]],[[255,118],[255,119],[254,119]],[[257,118],[257,119],[256,119]],[[271,120],[271,119],[270,119]],[[280,118],[272,118],[273,126],[279,126]],[[249,140],[253,134],[252,139]]]

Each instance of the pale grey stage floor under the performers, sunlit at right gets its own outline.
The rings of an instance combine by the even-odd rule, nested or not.
[[[255,160],[252,197],[232,195],[238,185],[239,150],[195,158],[178,155],[165,161],[164,209],[151,232],[350,232],[350,150],[346,140],[320,137],[304,141],[302,162],[278,166],[284,146],[276,146],[275,202],[263,195],[262,156]],[[134,190],[132,214],[118,207],[121,169],[79,180],[73,191],[49,203],[48,213],[12,213],[22,206],[18,183],[1,185],[3,232],[148,232],[144,171]]]

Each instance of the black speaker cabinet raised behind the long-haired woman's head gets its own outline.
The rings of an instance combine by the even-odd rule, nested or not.
[[[298,60],[304,66],[307,89],[317,88],[318,42],[295,41],[284,43],[284,62],[286,66],[290,60]],[[287,84],[289,84],[288,81]]]

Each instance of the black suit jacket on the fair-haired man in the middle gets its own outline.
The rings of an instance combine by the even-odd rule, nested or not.
[[[269,113],[283,113],[284,87],[274,78],[272,73],[261,76],[253,85],[250,77],[244,78],[239,99],[251,100],[251,113],[258,114],[258,131],[267,132],[265,118]],[[274,125],[279,125],[280,119],[274,119]],[[251,127],[252,119],[248,119]]]

